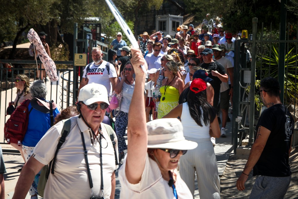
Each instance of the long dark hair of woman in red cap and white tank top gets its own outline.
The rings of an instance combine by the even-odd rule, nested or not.
[[[207,102],[206,90],[198,93],[194,93],[193,91],[190,90],[188,92],[187,104],[188,104],[190,116],[200,127],[203,126],[201,123],[202,117],[203,117],[205,126],[210,124],[216,117],[215,108],[212,107]],[[200,107],[203,110],[203,114]]]

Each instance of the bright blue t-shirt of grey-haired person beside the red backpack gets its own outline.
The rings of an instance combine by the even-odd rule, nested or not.
[[[31,107],[31,104],[29,104],[28,110]],[[59,113],[58,108],[53,109],[54,118]],[[24,146],[35,147],[49,128],[51,128],[50,113],[43,113],[33,108],[29,114],[28,128],[22,144]]]

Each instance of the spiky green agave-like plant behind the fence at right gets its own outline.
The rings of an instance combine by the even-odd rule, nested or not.
[[[292,48],[286,55],[285,55],[285,82],[284,82],[284,89],[285,89],[285,99],[288,104],[292,104],[294,101],[297,101],[297,54],[291,52],[294,48]],[[262,73],[264,76],[271,76],[277,78],[278,76],[278,52],[275,47],[272,47],[271,57],[263,55],[261,57],[263,60]],[[295,96],[296,95],[296,96]],[[296,97],[296,99],[295,99]]]

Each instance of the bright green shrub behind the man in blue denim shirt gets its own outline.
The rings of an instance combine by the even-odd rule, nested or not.
[[[128,27],[131,29],[131,31],[134,33],[134,22],[132,21],[127,21],[127,25]],[[103,32],[106,34],[106,39],[105,39],[105,43],[108,44],[108,46],[110,46],[111,42],[113,41],[113,39],[116,38],[116,34],[118,32],[122,33],[122,39],[126,42],[126,44],[128,46],[131,45],[131,43],[129,42],[128,38],[126,37],[126,35],[123,33],[121,27],[119,26],[118,22],[115,21],[114,23],[112,23],[111,25],[108,25]]]

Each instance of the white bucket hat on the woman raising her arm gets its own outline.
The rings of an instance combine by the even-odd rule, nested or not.
[[[183,127],[177,118],[163,118],[147,123],[148,148],[190,150],[198,146],[183,136]]]

